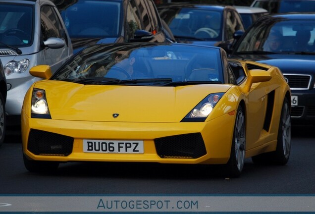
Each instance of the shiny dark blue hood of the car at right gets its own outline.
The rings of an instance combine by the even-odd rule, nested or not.
[[[315,55],[306,54],[237,54],[230,58],[252,60],[278,67],[283,73],[315,73]]]

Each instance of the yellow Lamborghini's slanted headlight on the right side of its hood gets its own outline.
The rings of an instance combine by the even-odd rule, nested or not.
[[[208,95],[182,119],[182,122],[205,121],[223,95],[224,93]]]

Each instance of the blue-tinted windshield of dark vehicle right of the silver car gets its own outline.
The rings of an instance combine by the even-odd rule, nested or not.
[[[71,38],[117,37],[120,2],[78,0],[59,9]]]

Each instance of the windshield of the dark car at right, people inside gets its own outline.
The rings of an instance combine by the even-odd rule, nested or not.
[[[314,20],[276,19],[251,28],[234,53],[314,53],[314,41]]]

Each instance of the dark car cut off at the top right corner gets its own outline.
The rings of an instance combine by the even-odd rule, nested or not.
[[[262,7],[269,13],[315,12],[315,0],[254,0],[251,7]]]

